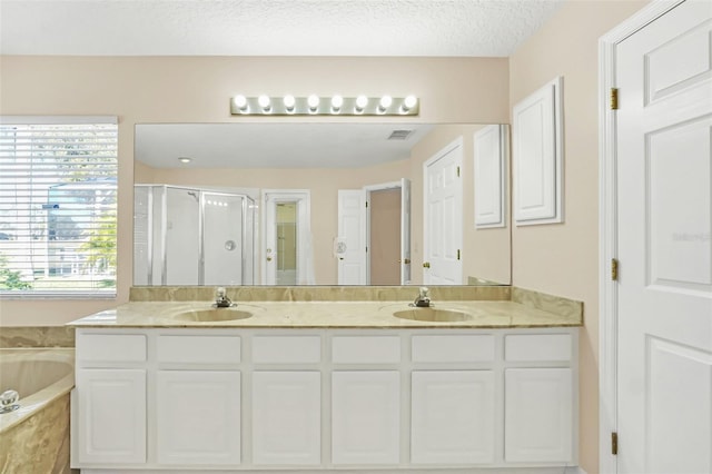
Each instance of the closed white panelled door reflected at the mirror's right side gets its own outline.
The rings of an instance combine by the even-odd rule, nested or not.
[[[424,164],[423,283],[463,283],[462,138]]]

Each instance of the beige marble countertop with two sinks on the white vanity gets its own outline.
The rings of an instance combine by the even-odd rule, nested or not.
[[[508,300],[443,300],[432,309],[458,312],[464,320],[426,322],[394,316],[425,308],[407,302],[246,302],[233,308],[212,308],[209,302],[132,302],[69,323],[78,328],[107,327],[210,327],[210,328],[516,328],[572,327],[583,324],[581,312],[550,313]],[[250,317],[226,319],[231,312]],[[201,312],[225,320],[196,320]],[[427,312],[427,309],[425,309]],[[227,315],[227,316],[226,316]]]

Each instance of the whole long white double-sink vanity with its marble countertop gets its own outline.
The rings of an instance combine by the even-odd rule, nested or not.
[[[581,315],[435,307],[466,317],[417,320],[425,313],[398,302],[251,302],[130,303],[77,320],[72,466],[576,465]]]

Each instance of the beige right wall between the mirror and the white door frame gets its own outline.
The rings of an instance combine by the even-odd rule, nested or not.
[[[646,1],[571,1],[510,58],[514,106],[556,76],[564,78],[565,221],[513,228],[516,286],[584,302],[581,332],[580,464],[599,472],[597,39]]]

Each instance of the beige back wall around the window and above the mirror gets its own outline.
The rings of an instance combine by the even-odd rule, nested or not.
[[[119,117],[118,297],[3,299],[0,325],[59,325],[128,300],[135,124],[250,121],[229,116],[231,96],[306,96],[315,91],[415,93],[422,105],[421,116],[413,120],[419,122],[508,119],[506,58],[0,57],[3,115]],[[403,121],[403,117],[394,121]],[[289,175],[280,177],[283,182],[275,186],[290,187]],[[333,211],[336,214],[335,204]],[[330,248],[332,243],[327,245]]]

